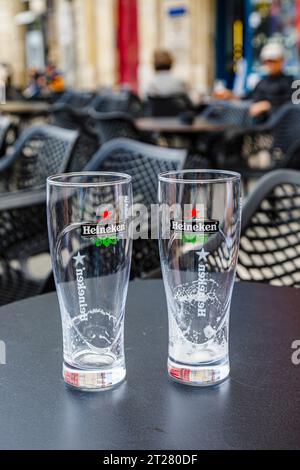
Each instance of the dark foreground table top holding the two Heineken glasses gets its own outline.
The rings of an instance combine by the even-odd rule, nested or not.
[[[56,294],[0,309],[1,449],[300,448],[300,291],[236,284],[230,379],[212,388],[172,382],[166,373],[163,283],[130,283],[127,380],[98,393],[68,389],[61,377]]]

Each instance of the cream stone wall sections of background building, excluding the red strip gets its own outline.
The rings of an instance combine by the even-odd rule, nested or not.
[[[53,0],[48,15],[49,58],[75,88],[96,89],[118,83],[117,0]],[[182,17],[168,9],[185,6]],[[26,79],[25,32],[15,15],[21,0],[0,0],[0,61],[13,66],[17,85]],[[138,0],[139,87],[151,80],[157,47],[173,51],[174,73],[198,91],[207,91],[214,77],[215,0]]]

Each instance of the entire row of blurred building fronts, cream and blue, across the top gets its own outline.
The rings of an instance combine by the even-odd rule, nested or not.
[[[261,47],[280,38],[299,70],[300,0],[0,0],[0,62],[22,86],[29,68],[55,63],[68,86],[129,83],[143,92],[154,49],[199,91],[233,81],[236,63],[258,68]]]

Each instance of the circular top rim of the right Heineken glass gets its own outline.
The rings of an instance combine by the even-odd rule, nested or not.
[[[202,174],[202,175],[219,175],[216,178],[195,178],[195,179],[188,179],[188,178],[178,178],[178,176],[183,176],[188,173],[191,174]],[[226,183],[228,181],[236,181],[241,179],[240,173],[235,171],[228,171],[228,170],[177,170],[177,171],[165,171],[158,175],[159,181],[164,183],[183,183],[183,184],[206,184],[206,183]]]

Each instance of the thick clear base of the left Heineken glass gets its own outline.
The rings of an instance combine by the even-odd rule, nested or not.
[[[109,390],[119,385],[126,376],[124,365],[109,369],[77,369],[63,363],[63,378],[67,385],[85,392]]]

